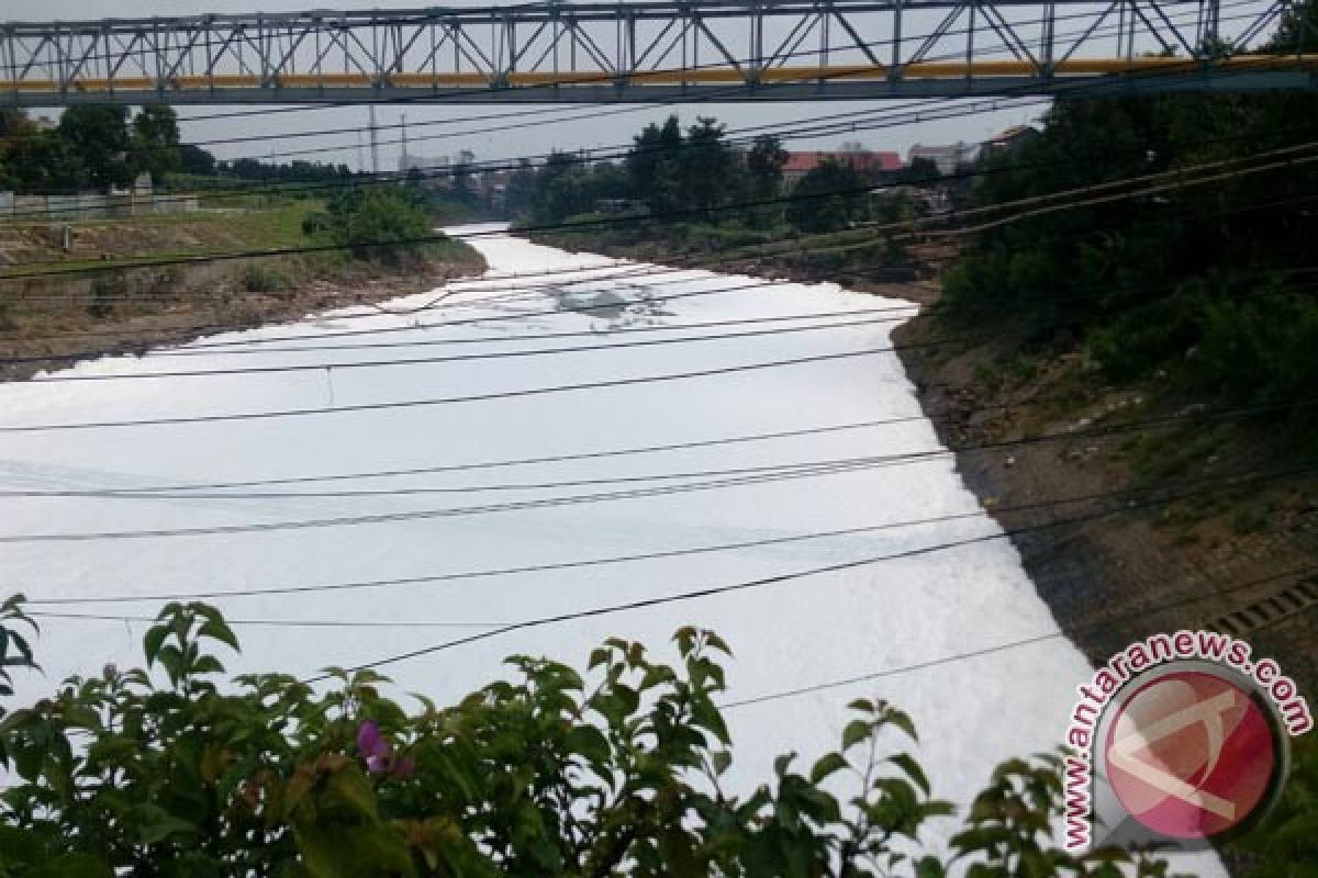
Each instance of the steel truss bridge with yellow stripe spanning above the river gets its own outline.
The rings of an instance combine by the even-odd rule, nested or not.
[[[1243,54],[1304,1],[639,0],[4,22],[0,105],[1307,88],[1318,54],[1304,38],[1294,54]]]

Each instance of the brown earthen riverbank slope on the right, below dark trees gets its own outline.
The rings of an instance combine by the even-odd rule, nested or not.
[[[1304,587],[1318,569],[1318,480],[1288,466],[1286,430],[1201,417],[1202,400],[1159,380],[1114,387],[1081,354],[1020,357],[1002,337],[927,346],[946,336],[924,315],[894,340],[942,442],[963,449],[958,470],[1003,528],[1127,507],[1015,540],[1090,661],[1203,627],[1246,637],[1318,691],[1318,602]],[[1149,423],[1161,426],[1120,426]],[[977,450],[986,445],[999,448]],[[1114,494],[1115,504],[1023,508]],[[1181,499],[1161,502],[1169,495]]]

